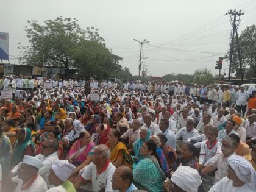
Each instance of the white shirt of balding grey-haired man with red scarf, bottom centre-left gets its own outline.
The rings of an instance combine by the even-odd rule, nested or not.
[[[107,170],[97,174],[96,165],[91,162],[89,165],[85,166],[83,169],[81,177],[84,180],[91,180],[93,185],[93,191],[97,192],[101,190],[101,187],[105,188],[105,192],[112,192],[112,175],[114,174],[116,167],[110,162]]]

